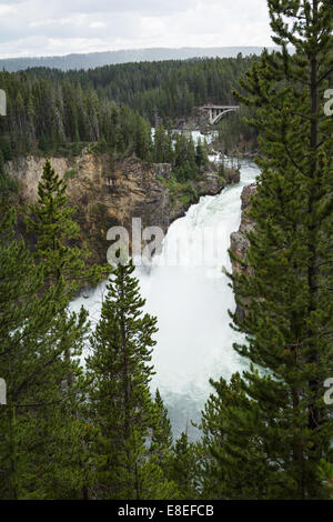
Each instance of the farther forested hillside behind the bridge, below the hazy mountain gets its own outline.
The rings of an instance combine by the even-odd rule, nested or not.
[[[193,107],[212,103],[234,103],[232,89],[239,86],[253,57],[105,66],[88,71],[62,72],[37,68],[27,72],[33,78],[53,82],[70,81],[82,89],[93,88],[100,98],[117,104],[127,103],[154,122],[154,116],[167,119],[186,117]]]

